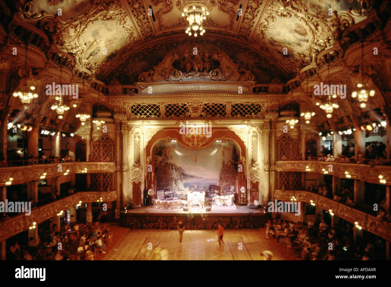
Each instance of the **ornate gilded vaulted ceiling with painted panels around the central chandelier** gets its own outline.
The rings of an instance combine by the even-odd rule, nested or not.
[[[364,20],[367,11],[360,3],[364,2],[364,8],[368,5],[355,0],[26,2],[21,7],[27,11],[21,12],[23,16],[30,21],[52,19],[54,42],[75,57],[79,70],[86,69],[106,83],[118,77],[122,84],[130,84],[136,74],[158,64],[167,54],[163,50],[178,53],[193,43],[208,43],[212,51],[231,54],[237,64],[243,54],[248,55],[249,68],[259,82],[275,78],[286,82],[311,64],[317,53],[332,46],[346,27]],[[204,20],[206,33],[197,37],[198,42],[185,34],[187,22],[181,16],[183,7],[193,3],[209,12]],[[242,16],[238,16],[240,7]],[[59,8],[61,16],[56,15]],[[148,15],[149,8],[153,16]],[[152,57],[140,60],[146,53]]]

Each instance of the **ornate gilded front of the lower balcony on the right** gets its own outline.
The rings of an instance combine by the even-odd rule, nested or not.
[[[358,222],[362,229],[376,234],[387,241],[391,241],[391,223],[379,220],[375,216],[366,214],[363,211],[354,209],[337,201],[325,198],[316,193],[309,191],[274,191],[274,198],[282,201],[291,201],[292,196],[297,201],[310,202],[325,210],[331,209],[335,216],[341,217],[349,222]]]

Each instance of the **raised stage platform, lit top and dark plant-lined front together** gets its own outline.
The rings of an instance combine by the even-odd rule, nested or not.
[[[252,213],[251,219],[249,212]],[[270,214],[268,212],[264,213],[262,208],[260,209],[249,209],[248,205],[232,205],[232,206],[215,206],[212,205],[211,211],[206,211],[205,209],[193,209],[189,211],[183,211],[183,208],[178,209],[158,209],[154,206],[147,207],[136,207],[135,209],[130,209],[120,212],[120,222],[121,226],[131,227],[133,221],[144,222],[146,217],[149,216],[151,222],[156,222],[160,217],[166,223],[171,223],[173,218],[176,217],[177,222],[187,222],[189,213],[194,216],[194,225],[199,225],[205,223],[203,217],[207,217],[207,223],[213,225],[215,223],[226,224],[236,224],[240,223],[246,225],[249,221],[257,226],[265,226],[267,219],[270,219]]]

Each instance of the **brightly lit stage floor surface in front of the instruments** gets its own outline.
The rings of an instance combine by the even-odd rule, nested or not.
[[[253,214],[264,214],[263,209],[249,209],[247,205],[241,206],[241,205],[232,205],[232,206],[214,206],[212,205],[212,210],[206,212],[205,209],[192,209],[190,210],[192,214],[201,214],[201,213],[208,213],[213,215],[218,214],[226,214],[230,216],[243,216],[248,215],[248,213],[251,211]],[[122,213],[125,213],[124,211],[121,211]],[[158,209],[154,206],[142,206],[142,207],[136,207],[135,209],[129,209],[127,210],[126,214],[145,214],[145,212],[148,212],[149,214],[154,215],[170,215],[170,214],[188,214],[188,211],[183,211],[182,208],[176,208],[176,209]]]

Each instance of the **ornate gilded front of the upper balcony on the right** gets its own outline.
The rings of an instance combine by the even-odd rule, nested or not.
[[[368,164],[344,163],[333,161],[315,160],[278,160],[277,171],[316,172],[333,175],[341,178],[361,180],[362,182],[379,183],[379,175],[382,175],[387,184],[391,183],[391,166],[374,166]],[[347,172],[348,174],[346,174]],[[349,175],[349,176],[346,176]]]

